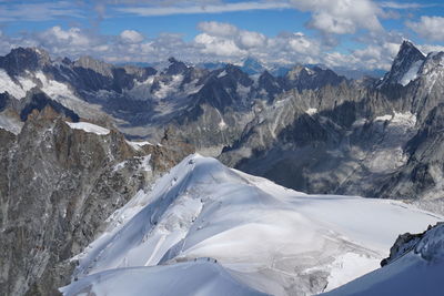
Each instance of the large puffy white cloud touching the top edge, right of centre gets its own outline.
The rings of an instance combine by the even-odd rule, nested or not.
[[[371,0],[291,0],[302,11],[312,12],[309,27],[327,34],[354,33],[357,29],[383,31],[383,11]]]

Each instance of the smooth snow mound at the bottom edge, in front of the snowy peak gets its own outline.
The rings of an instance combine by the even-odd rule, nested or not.
[[[219,264],[206,258],[168,266],[107,271],[74,282],[62,292],[64,295],[265,296],[240,284]]]

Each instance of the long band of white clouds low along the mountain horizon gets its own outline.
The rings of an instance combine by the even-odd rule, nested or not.
[[[22,45],[42,47],[52,57],[77,59],[88,54],[109,62],[157,62],[170,57],[194,63],[240,62],[246,57],[253,57],[269,64],[322,63],[331,68],[387,70],[402,41],[398,32],[369,32],[355,39],[365,44],[364,48],[340,53],[320,39],[302,32],[266,37],[222,22],[202,22],[198,28],[201,32],[191,41],[174,33],[162,33],[149,39],[133,30],[123,30],[118,35],[101,35],[97,31],[59,25],[14,38],[0,31],[0,53],[6,54],[11,48]],[[443,49],[433,45],[418,48],[424,52]]]

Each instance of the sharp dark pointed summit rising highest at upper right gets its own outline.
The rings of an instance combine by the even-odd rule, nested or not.
[[[407,85],[416,79],[424,61],[425,55],[411,41],[404,40],[393,61],[392,69],[384,75],[380,86],[386,84]]]

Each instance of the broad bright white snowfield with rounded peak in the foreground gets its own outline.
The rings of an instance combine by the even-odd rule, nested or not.
[[[306,195],[190,155],[109,218],[61,292],[313,295],[376,269],[398,234],[440,220],[391,200]]]

